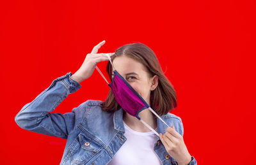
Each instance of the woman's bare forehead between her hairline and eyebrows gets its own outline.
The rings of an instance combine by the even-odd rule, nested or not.
[[[147,73],[147,68],[143,64],[124,55],[115,57],[113,66],[121,75],[130,72],[135,72],[138,75]]]

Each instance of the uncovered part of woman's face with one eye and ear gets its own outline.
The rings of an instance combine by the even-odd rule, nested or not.
[[[158,77],[148,77],[147,68],[131,57],[118,56],[113,60],[113,66],[121,76],[132,86],[145,101],[150,104],[150,91],[156,89]],[[112,73],[113,78],[113,73]]]

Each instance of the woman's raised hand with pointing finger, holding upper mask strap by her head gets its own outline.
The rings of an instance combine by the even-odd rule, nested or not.
[[[73,80],[76,80],[76,82],[80,83],[83,82],[83,80],[86,80],[90,76],[92,76],[92,73],[100,61],[109,61],[108,56],[106,54],[97,54],[99,48],[104,45],[106,41],[100,42],[98,45],[93,47],[93,50],[90,54],[87,54],[82,66],[74,73],[74,75],[71,76]],[[111,57],[115,53],[108,53]]]

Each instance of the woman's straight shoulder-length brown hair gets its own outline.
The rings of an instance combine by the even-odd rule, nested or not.
[[[166,115],[170,110],[177,107],[177,95],[173,89],[172,83],[163,73],[156,54],[147,45],[143,43],[129,43],[119,47],[115,54],[111,57],[111,61],[115,57],[125,55],[140,62],[147,68],[149,76],[158,76],[158,85],[155,90],[150,92],[150,107],[156,111],[157,115]],[[112,67],[110,62],[107,64],[107,72],[112,81]],[[102,110],[113,112],[119,110],[121,106],[116,102],[111,89],[109,89],[106,101],[101,103]]]

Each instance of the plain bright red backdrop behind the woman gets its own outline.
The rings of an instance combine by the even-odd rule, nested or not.
[[[60,164],[66,140],[21,129],[15,115],[104,39],[99,53],[134,42],[156,53],[199,164],[255,164],[255,10],[249,0],[1,1],[1,164]],[[96,70],[81,85],[53,112],[108,94]]]

